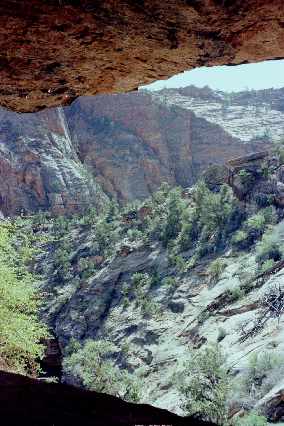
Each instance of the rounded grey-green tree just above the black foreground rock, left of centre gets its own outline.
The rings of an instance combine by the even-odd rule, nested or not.
[[[86,339],[84,347],[63,359],[65,369],[83,381],[86,389],[115,395],[128,402],[138,403],[141,382],[127,370],[119,370],[113,365],[111,354],[115,349],[106,339]]]

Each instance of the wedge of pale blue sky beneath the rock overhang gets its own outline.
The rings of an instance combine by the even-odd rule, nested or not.
[[[237,66],[212,66],[195,68],[175,75],[169,80],[156,81],[142,88],[160,90],[162,87],[185,87],[191,83],[197,87],[240,92],[249,89],[280,89],[284,87],[284,60],[269,60]]]

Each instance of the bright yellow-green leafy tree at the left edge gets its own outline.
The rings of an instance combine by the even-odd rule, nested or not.
[[[39,277],[27,265],[39,252],[32,232],[20,233],[14,225],[0,225],[1,368],[33,377],[40,371],[37,360],[45,356],[40,338],[51,338],[37,317],[43,297]]]

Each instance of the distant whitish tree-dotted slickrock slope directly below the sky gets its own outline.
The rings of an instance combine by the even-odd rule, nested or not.
[[[252,151],[263,150],[261,141],[278,141],[284,135],[284,88],[231,94],[208,86],[188,86],[152,92],[152,97],[163,105],[192,109],[197,117],[219,124],[244,144],[252,143]]]

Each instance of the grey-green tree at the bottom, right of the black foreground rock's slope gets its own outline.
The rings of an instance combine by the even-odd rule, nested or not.
[[[219,343],[210,343],[196,356],[186,350],[182,371],[175,371],[172,380],[182,398],[181,409],[188,415],[217,424],[226,424],[229,395],[227,355]]]

